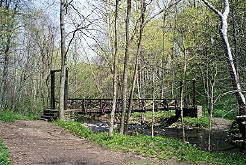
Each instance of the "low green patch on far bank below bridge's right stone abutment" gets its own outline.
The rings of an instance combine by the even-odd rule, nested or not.
[[[191,118],[191,117],[185,117],[184,118],[184,124],[187,127],[208,127],[209,125],[209,118],[208,117],[200,117],[200,118]]]

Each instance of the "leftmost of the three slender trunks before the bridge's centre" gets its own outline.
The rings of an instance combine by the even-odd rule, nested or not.
[[[118,63],[118,32],[117,32],[117,19],[118,19],[118,5],[119,0],[115,1],[115,18],[114,18],[114,76],[113,76],[113,105],[112,111],[110,113],[110,123],[109,123],[109,136],[113,135],[114,129],[114,116],[116,109],[116,101],[117,101],[117,63]]]

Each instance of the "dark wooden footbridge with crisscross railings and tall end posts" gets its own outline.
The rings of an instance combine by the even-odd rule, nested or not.
[[[50,108],[44,110],[45,119],[54,119],[58,116],[58,109],[56,109],[55,99],[55,73],[60,70],[51,70],[51,84],[50,84]],[[193,98],[192,103],[189,105],[184,101],[184,112],[190,116],[197,116],[196,106],[196,85],[195,80],[192,80],[193,86]],[[65,101],[64,109],[66,112],[76,112],[81,114],[108,114],[112,110],[113,99],[89,99],[89,98],[68,98],[68,71],[66,72],[65,82]],[[154,104],[155,111],[169,111],[175,110],[176,115],[180,115],[180,106],[178,99],[133,99],[132,112],[146,112],[152,111]],[[120,113],[122,110],[122,99],[117,99],[116,102],[116,113]]]

